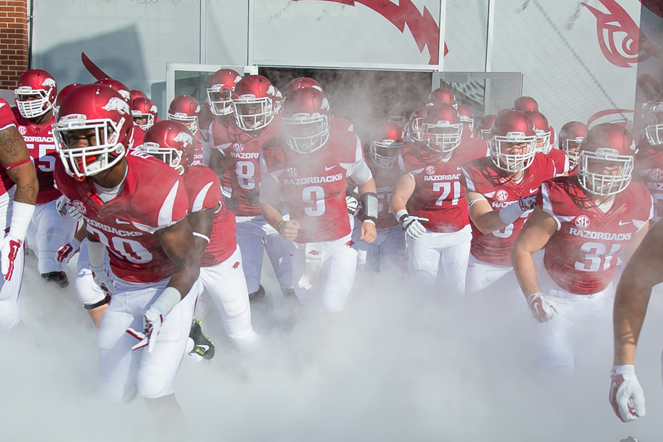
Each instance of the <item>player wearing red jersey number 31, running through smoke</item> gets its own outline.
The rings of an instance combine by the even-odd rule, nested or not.
[[[547,180],[511,250],[534,319],[538,368],[569,375],[575,326],[610,327],[617,256],[633,254],[652,217],[647,187],[631,183],[635,144],[620,125],[591,128],[580,145],[577,176]],[[545,250],[543,266],[532,255]],[[627,371],[620,371],[625,374]]]

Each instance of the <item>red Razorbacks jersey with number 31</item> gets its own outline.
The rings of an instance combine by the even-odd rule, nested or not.
[[[557,221],[557,232],[544,247],[545,269],[557,285],[575,294],[605,289],[615,276],[620,251],[652,217],[652,197],[640,183],[615,195],[605,213],[577,177],[545,181],[536,203]]]

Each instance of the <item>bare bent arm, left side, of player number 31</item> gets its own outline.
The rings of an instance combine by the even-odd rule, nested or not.
[[[513,243],[511,264],[525,297],[540,291],[532,255],[543,249],[556,230],[555,219],[536,207]]]

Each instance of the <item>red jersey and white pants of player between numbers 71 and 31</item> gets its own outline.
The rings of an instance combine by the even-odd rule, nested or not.
[[[537,153],[529,168],[525,169],[520,182],[515,183],[507,173],[498,169],[491,158],[480,158],[463,165],[461,183],[472,192],[478,192],[488,201],[493,210],[517,204],[521,197],[536,195],[541,183],[555,177],[555,163],[550,155]],[[490,289],[500,279],[500,285],[508,292],[523,296],[515,272],[511,266],[511,246],[531,211],[515,220],[502,230],[483,234],[473,222],[470,264],[467,272],[466,293],[478,294]],[[506,284],[506,285],[505,285]],[[494,287],[493,287],[494,288]],[[484,292],[488,294],[487,291]],[[520,301],[520,298],[518,298]]]

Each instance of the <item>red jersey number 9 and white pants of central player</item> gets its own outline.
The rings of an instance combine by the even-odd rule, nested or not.
[[[362,185],[372,178],[361,141],[347,130],[331,130],[322,148],[299,155],[277,138],[263,146],[261,168],[261,201],[278,204],[280,190],[290,219],[300,225],[290,249],[299,302],[312,312],[344,309],[357,259],[345,201],[347,180]]]

